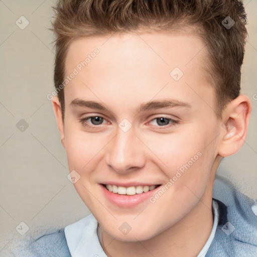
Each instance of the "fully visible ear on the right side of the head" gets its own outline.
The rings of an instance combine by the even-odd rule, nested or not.
[[[235,154],[243,146],[249,124],[251,102],[246,95],[239,95],[223,111],[221,142],[218,154],[227,157]]]

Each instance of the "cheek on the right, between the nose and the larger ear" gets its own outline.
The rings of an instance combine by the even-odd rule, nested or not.
[[[155,154],[165,163],[163,172],[167,180],[172,179],[171,191],[181,197],[187,196],[190,189],[203,193],[208,183],[215,159],[215,146],[208,145],[211,135],[213,131],[206,132],[195,126],[191,127],[190,133],[171,135],[166,140],[163,137],[155,145]]]

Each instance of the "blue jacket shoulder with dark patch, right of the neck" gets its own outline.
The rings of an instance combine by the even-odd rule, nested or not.
[[[257,200],[244,195],[231,182],[219,176],[214,183],[213,199],[219,205],[219,223],[206,257],[255,256]]]

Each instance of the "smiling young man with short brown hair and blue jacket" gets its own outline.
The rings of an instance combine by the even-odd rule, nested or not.
[[[256,201],[216,177],[246,139],[236,0],[59,1],[52,99],[92,214],[33,256],[256,256]],[[216,178],[216,179],[215,179]]]

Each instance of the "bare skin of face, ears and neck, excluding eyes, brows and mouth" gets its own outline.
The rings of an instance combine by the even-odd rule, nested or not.
[[[75,189],[100,224],[104,251],[112,257],[196,256],[213,226],[218,165],[244,143],[250,100],[240,95],[216,118],[204,69],[207,52],[195,35],[133,32],[77,39],[68,49],[66,75],[95,48],[99,54],[64,88],[64,122],[57,96],[52,102],[69,170],[80,175]],[[178,81],[170,76],[175,67],[184,73]],[[191,107],[137,111],[142,103],[167,98]],[[97,101],[108,111],[71,105],[74,99]],[[97,115],[104,118],[100,124],[80,121]],[[161,117],[178,123],[165,119],[163,125]],[[124,118],[132,125],[127,132],[118,126]],[[100,190],[103,181],[165,185],[199,152],[155,203],[120,208]],[[119,230],[123,222],[131,227],[127,234]]]

